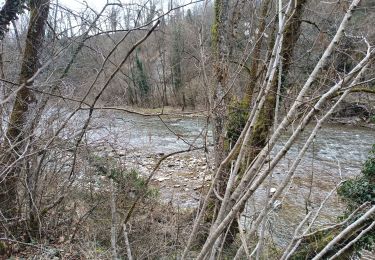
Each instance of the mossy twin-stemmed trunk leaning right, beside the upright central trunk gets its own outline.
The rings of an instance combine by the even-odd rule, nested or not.
[[[306,0],[298,1],[295,12],[293,13],[293,16],[291,17],[290,22],[286,25],[286,28],[284,31],[284,41],[283,41],[283,46],[281,50],[281,57],[283,59],[283,64],[284,64],[282,83],[284,82],[285,75],[288,74],[288,71],[290,68],[291,59],[293,57],[293,50],[299,37],[301,16],[304,10],[303,7],[305,6],[306,2],[307,2]],[[269,12],[269,4],[270,4],[269,0],[266,0],[262,3],[261,16],[259,18],[259,25],[258,25],[258,32],[259,32],[258,35],[262,35],[265,30],[267,13]],[[258,35],[257,37],[262,37]],[[271,37],[269,41],[270,49],[273,48],[273,45],[274,45],[274,38]],[[246,111],[248,111],[248,108],[251,106],[253,92],[255,88],[257,87],[257,81],[260,78],[258,74],[259,74],[259,67],[260,67],[261,49],[262,49],[262,38],[260,38],[259,40],[257,39],[257,43],[254,47],[254,53],[252,56],[252,62],[251,62],[251,67],[250,67],[250,75],[249,75],[250,78],[247,84],[247,88],[245,90],[245,95],[240,104],[241,108],[244,108],[244,109],[241,109],[239,113],[246,113]],[[276,72],[276,75],[277,74],[278,74],[278,71]],[[278,89],[278,80],[277,80],[277,77],[274,77],[269,94],[266,97],[264,106],[261,109],[259,117],[254,126],[252,138],[249,140],[250,149],[244,158],[243,170],[245,170],[247,166],[257,157],[258,153],[262,150],[262,148],[267,143],[268,135],[273,125],[274,116],[275,116],[277,89]],[[238,120],[238,114],[234,115],[234,117],[237,118]],[[243,117],[243,118],[245,119],[246,117]],[[238,125],[238,123],[239,122],[235,122],[236,125]],[[242,131],[242,128],[244,127],[245,122],[239,123],[239,124],[241,125],[241,129],[239,130],[237,129],[236,131],[240,133]],[[239,136],[239,134],[238,135],[234,134],[234,136]],[[232,142],[236,142],[236,141],[237,139],[232,140]],[[241,174],[243,170],[240,170],[239,174]],[[237,219],[234,219],[231,224],[231,227],[229,230],[229,237],[227,238],[227,240],[232,241],[233,238],[237,235],[237,233],[238,233],[238,223],[237,223]]]

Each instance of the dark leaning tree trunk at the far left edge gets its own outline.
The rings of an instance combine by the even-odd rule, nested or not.
[[[5,218],[17,217],[15,202],[17,200],[18,174],[20,163],[17,162],[19,154],[23,153],[27,133],[27,115],[30,105],[35,98],[28,88],[32,82],[29,79],[36,73],[39,66],[39,52],[42,49],[44,38],[44,24],[48,17],[49,0],[35,0],[30,2],[30,22],[26,38],[26,46],[22,60],[19,83],[21,88],[17,92],[12,113],[7,129],[7,142],[4,142],[3,151],[6,152],[4,161],[1,162],[3,171],[11,166],[0,180],[0,208]],[[14,164],[15,165],[12,165]],[[2,173],[4,173],[2,171]],[[38,230],[34,214],[30,216],[32,230]]]

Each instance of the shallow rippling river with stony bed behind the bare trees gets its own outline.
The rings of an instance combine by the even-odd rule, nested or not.
[[[129,168],[142,174],[151,172],[157,160],[164,154],[199,147],[204,141],[211,143],[212,134],[202,117],[144,117],[124,113],[100,113],[89,130],[89,141],[111,143],[109,155],[122,158]],[[243,214],[244,225],[250,225],[264,206],[269,188],[276,188],[296,158],[313,126],[308,127],[293,145],[285,158],[273,171],[271,181],[261,186]],[[281,149],[288,138],[284,134],[275,147]],[[337,185],[360,173],[367,158],[375,131],[344,125],[325,125],[311,144],[287,192],[279,199],[281,207],[269,215],[267,225],[270,237],[277,245],[285,247],[295,227],[306,212],[316,210],[323,201],[324,207],[317,218],[317,225],[326,225],[342,214],[343,204],[335,192],[327,195]],[[275,152],[274,151],[274,152]],[[202,150],[179,154],[168,158],[154,177],[162,199],[189,208],[198,204],[200,191],[206,187],[209,166]]]

